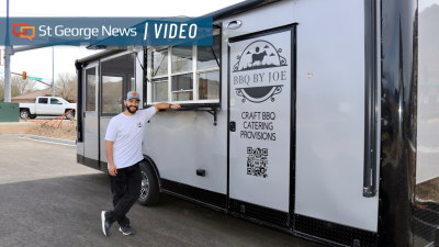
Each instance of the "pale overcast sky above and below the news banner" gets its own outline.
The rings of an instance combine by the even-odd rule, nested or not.
[[[200,16],[241,0],[10,0],[10,16]],[[7,0],[0,0],[0,16],[7,16]],[[1,47],[3,49],[4,47]],[[52,81],[52,47],[16,53],[11,71]],[[56,46],[55,78],[58,72],[75,74],[75,60],[93,50]],[[3,53],[2,53],[3,54]],[[2,64],[3,65],[3,64]],[[4,66],[0,66],[0,71]]]

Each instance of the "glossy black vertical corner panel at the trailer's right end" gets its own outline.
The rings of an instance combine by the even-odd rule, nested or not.
[[[417,1],[381,1],[379,245],[413,246]]]

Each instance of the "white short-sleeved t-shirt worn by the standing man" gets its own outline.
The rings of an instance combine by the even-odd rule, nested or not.
[[[132,116],[121,113],[111,119],[105,139],[114,142],[113,160],[117,169],[133,166],[144,159],[142,141],[145,125],[154,114],[156,114],[156,109],[151,106],[137,110]],[[108,166],[110,167],[110,164]]]

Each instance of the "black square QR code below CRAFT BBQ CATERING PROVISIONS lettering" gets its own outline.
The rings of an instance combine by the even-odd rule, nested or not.
[[[247,175],[267,178],[268,148],[247,147]]]

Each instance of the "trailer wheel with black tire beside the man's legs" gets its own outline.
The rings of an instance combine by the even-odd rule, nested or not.
[[[138,202],[144,206],[153,206],[160,200],[158,178],[149,162],[140,162],[142,189]]]

